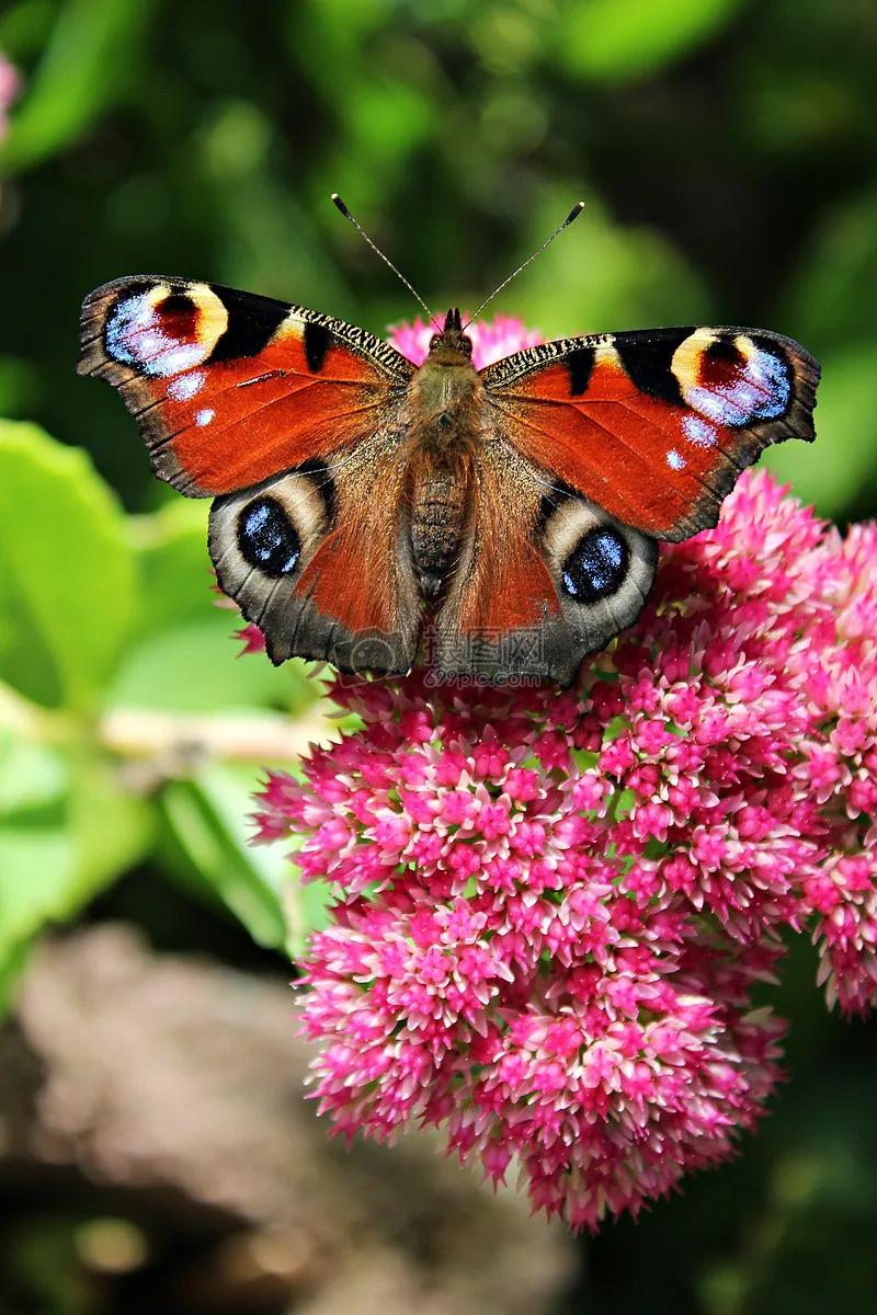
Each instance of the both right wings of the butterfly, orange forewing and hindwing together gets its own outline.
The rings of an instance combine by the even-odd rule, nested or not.
[[[778,334],[693,327],[568,338],[484,370],[490,442],[438,665],[572,680],[642,610],[656,540],[715,525],[769,443],[813,439],[818,377]]]

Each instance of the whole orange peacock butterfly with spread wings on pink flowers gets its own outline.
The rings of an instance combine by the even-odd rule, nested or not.
[[[79,371],[120,391],[159,479],[214,500],[218,584],[273,663],[401,673],[426,648],[448,677],[563,685],[635,621],[659,542],[814,438],[819,379],[781,334],[697,326],[476,371],[458,309],[415,367],[331,316],[151,275],[85,297]]]

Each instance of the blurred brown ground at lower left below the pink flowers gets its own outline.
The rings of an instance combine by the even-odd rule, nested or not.
[[[330,1141],[306,1061],[275,982],[155,955],[124,924],[43,944],[0,1034],[7,1216],[79,1219],[88,1310],[556,1306],[576,1264],[561,1228],[431,1136]]]

